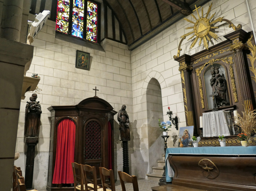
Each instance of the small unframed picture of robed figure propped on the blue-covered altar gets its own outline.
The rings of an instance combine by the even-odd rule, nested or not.
[[[192,137],[194,134],[194,126],[180,127],[178,147],[192,147]],[[183,146],[182,146],[182,145]]]

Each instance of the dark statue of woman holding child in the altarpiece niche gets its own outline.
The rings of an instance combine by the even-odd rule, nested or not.
[[[219,68],[216,66],[211,67],[210,85],[213,92],[218,95],[215,96],[215,103],[217,108],[224,105],[229,105],[227,96],[227,81],[224,75],[220,74]]]

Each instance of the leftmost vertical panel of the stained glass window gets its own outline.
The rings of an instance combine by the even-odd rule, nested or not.
[[[56,31],[68,34],[69,0],[58,0]]]

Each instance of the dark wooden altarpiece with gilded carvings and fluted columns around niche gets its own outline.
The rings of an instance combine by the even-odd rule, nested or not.
[[[184,107],[187,126],[194,126],[194,135],[200,134],[200,116],[203,112],[210,112],[213,108],[208,102],[213,102],[212,97],[206,93],[204,74],[211,65],[217,64],[225,70],[228,89],[229,104],[220,106],[219,110],[242,111],[256,109],[256,72],[254,61],[256,59],[256,47],[252,32],[242,29],[224,35],[227,39],[202,50],[193,55],[183,54],[175,60],[180,63],[181,81],[183,88]],[[179,56],[179,52],[178,52]],[[244,108],[243,108],[244,106]],[[231,135],[226,138],[228,145],[241,145]],[[203,137],[199,146],[220,146],[217,137]],[[249,145],[256,145],[255,141],[249,141]]]

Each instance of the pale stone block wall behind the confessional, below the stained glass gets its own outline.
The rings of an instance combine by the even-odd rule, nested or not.
[[[93,97],[95,94],[93,88],[97,86],[98,97],[108,101],[116,111],[125,104],[130,120],[133,121],[130,51],[126,45],[108,39],[101,44],[105,51],[56,39],[55,22],[49,20],[32,45],[34,45],[34,56],[26,76],[37,73],[41,77],[38,87],[42,89],[37,98],[42,107],[42,114],[39,143],[35,153],[33,184],[36,189],[45,190],[50,138],[50,112],[47,108],[51,105],[78,104],[88,97]],[[76,50],[90,53],[89,71],[75,68]],[[24,144],[25,106],[31,95],[32,92],[27,92],[25,100],[21,100],[16,143],[16,152],[20,152],[20,158],[15,161],[15,165],[21,167],[23,176],[25,176],[26,164],[24,152],[27,149]],[[114,127],[115,142],[120,145],[117,115],[115,115]],[[122,161],[122,155],[118,155],[118,158],[116,156],[115,151],[114,160]]]

